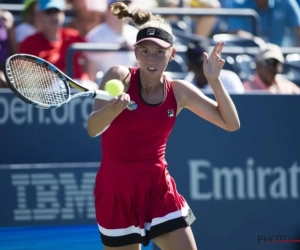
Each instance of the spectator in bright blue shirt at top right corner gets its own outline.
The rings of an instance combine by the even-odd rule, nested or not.
[[[235,0],[232,7],[257,11],[262,38],[266,42],[284,46],[285,30],[290,28],[294,46],[300,45],[300,7],[296,0]],[[249,18],[230,18],[228,29],[244,37],[253,37],[252,20]]]

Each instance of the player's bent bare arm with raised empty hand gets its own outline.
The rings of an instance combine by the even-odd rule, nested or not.
[[[205,53],[203,63],[204,74],[213,89],[216,101],[205,96],[189,82],[177,80],[172,85],[180,108],[187,108],[225,130],[235,131],[240,127],[238,113],[219,78],[225,63],[220,57],[223,46],[224,43],[218,43],[210,56]]]

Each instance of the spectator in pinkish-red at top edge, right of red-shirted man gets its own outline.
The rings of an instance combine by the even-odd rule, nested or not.
[[[82,37],[85,37],[89,31],[104,22],[105,9],[91,9],[87,0],[68,0],[68,3],[71,5],[74,17],[66,27],[78,30]]]

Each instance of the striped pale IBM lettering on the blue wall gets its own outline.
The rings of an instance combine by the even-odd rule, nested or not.
[[[68,172],[57,175],[12,174],[11,183],[16,188],[17,197],[17,207],[13,211],[14,220],[94,219],[95,175],[96,172],[84,172],[78,180],[74,173]]]

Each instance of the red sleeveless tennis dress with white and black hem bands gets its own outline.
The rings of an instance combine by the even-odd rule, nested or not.
[[[195,220],[167,170],[166,142],[177,102],[167,79],[164,87],[161,103],[146,103],[139,69],[133,68],[127,93],[137,109],[124,110],[102,134],[94,194],[96,219],[106,246],[146,246],[152,238]]]

